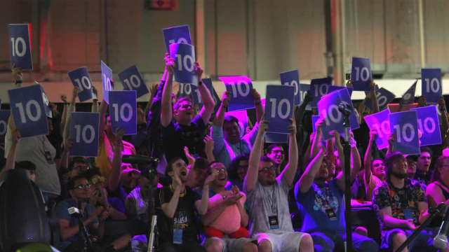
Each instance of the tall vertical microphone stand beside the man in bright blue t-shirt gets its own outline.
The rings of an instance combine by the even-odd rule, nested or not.
[[[342,113],[344,116],[344,200],[345,209],[344,218],[346,219],[346,251],[352,252],[352,221],[351,221],[351,145],[349,144],[349,116],[350,114]]]

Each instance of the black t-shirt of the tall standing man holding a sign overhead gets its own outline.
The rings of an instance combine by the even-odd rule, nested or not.
[[[167,127],[161,128],[163,148],[165,149],[167,162],[170,162],[170,160],[175,157],[187,160],[184,153],[185,146],[189,148],[189,153],[191,155],[200,155],[201,157],[206,158],[206,153],[204,152],[205,145],[203,142],[206,125],[204,125],[201,116],[196,116],[189,126],[178,125],[171,121]]]

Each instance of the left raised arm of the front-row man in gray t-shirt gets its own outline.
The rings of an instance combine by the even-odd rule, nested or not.
[[[263,120],[263,117],[262,117]],[[259,123],[259,131],[257,132],[257,137],[254,142],[253,149],[250,153],[250,159],[249,159],[249,165],[248,165],[248,172],[245,176],[245,185],[246,185],[246,193],[250,193],[256,183],[257,183],[257,175],[259,174],[259,162],[260,162],[260,156],[262,155],[262,150],[264,146],[264,134],[265,130],[268,129],[269,121],[264,120],[261,123]]]

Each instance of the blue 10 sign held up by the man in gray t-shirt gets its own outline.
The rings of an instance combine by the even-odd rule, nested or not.
[[[295,87],[289,85],[267,85],[265,99],[265,120],[273,122],[269,125],[269,132],[290,134],[287,126],[295,106]]]

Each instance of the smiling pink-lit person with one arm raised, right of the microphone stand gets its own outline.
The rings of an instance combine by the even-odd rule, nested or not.
[[[365,174],[363,180],[365,181],[366,197],[368,201],[373,200],[373,190],[377,185],[385,181],[385,166],[384,160],[375,159],[371,156],[374,143],[377,139],[377,131],[370,131],[370,141],[365,153]],[[374,174],[374,176],[373,176]]]

